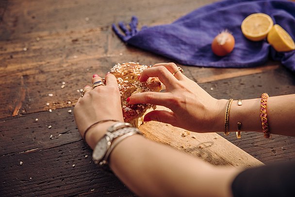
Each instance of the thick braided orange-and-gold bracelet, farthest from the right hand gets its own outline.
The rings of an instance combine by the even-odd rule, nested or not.
[[[260,117],[262,122],[263,136],[265,138],[271,137],[271,134],[269,132],[269,127],[268,127],[268,122],[267,122],[267,115],[266,115],[266,103],[268,98],[269,98],[268,94],[263,93],[261,95],[261,102],[260,102]]]

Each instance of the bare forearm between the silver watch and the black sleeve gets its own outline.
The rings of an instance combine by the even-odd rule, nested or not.
[[[123,140],[110,156],[110,167],[140,196],[226,196],[239,170],[215,167],[140,135]]]

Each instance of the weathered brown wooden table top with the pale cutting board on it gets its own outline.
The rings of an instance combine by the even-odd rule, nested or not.
[[[0,196],[134,196],[115,175],[92,162],[92,151],[70,110],[94,73],[103,75],[116,63],[171,61],[126,46],[112,32],[112,23],[135,15],[139,26],[166,24],[206,3],[1,0]],[[243,69],[180,66],[218,99],[295,93],[294,74],[278,62]],[[241,140],[234,134],[226,137],[246,153],[216,133],[186,133],[156,122],[140,129],[150,139],[216,165],[295,159],[294,137],[275,135],[267,140],[261,133],[243,133]]]

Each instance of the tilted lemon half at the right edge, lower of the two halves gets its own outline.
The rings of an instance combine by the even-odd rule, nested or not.
[[[281,26],[274,25],[267,35],[268,43],[279,52],[286,52],[295,49],[292,37]]]

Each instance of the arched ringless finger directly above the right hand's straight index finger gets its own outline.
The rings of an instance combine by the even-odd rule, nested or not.
[[[178,81],[173,75],[171,75],[169,70],[167,70],[167,68],[164,66],[156,66],[156,67],[151,67],[151,68],[145,69],[141,73],[141,75],[139,77],[139,81],[146,82],[149,77],[158,77],[159,80],[161,82],[163,82],[164,85],[166,85],[166,86],[167,86],[167,84],[173,85],[174,83],[176,83]]]

